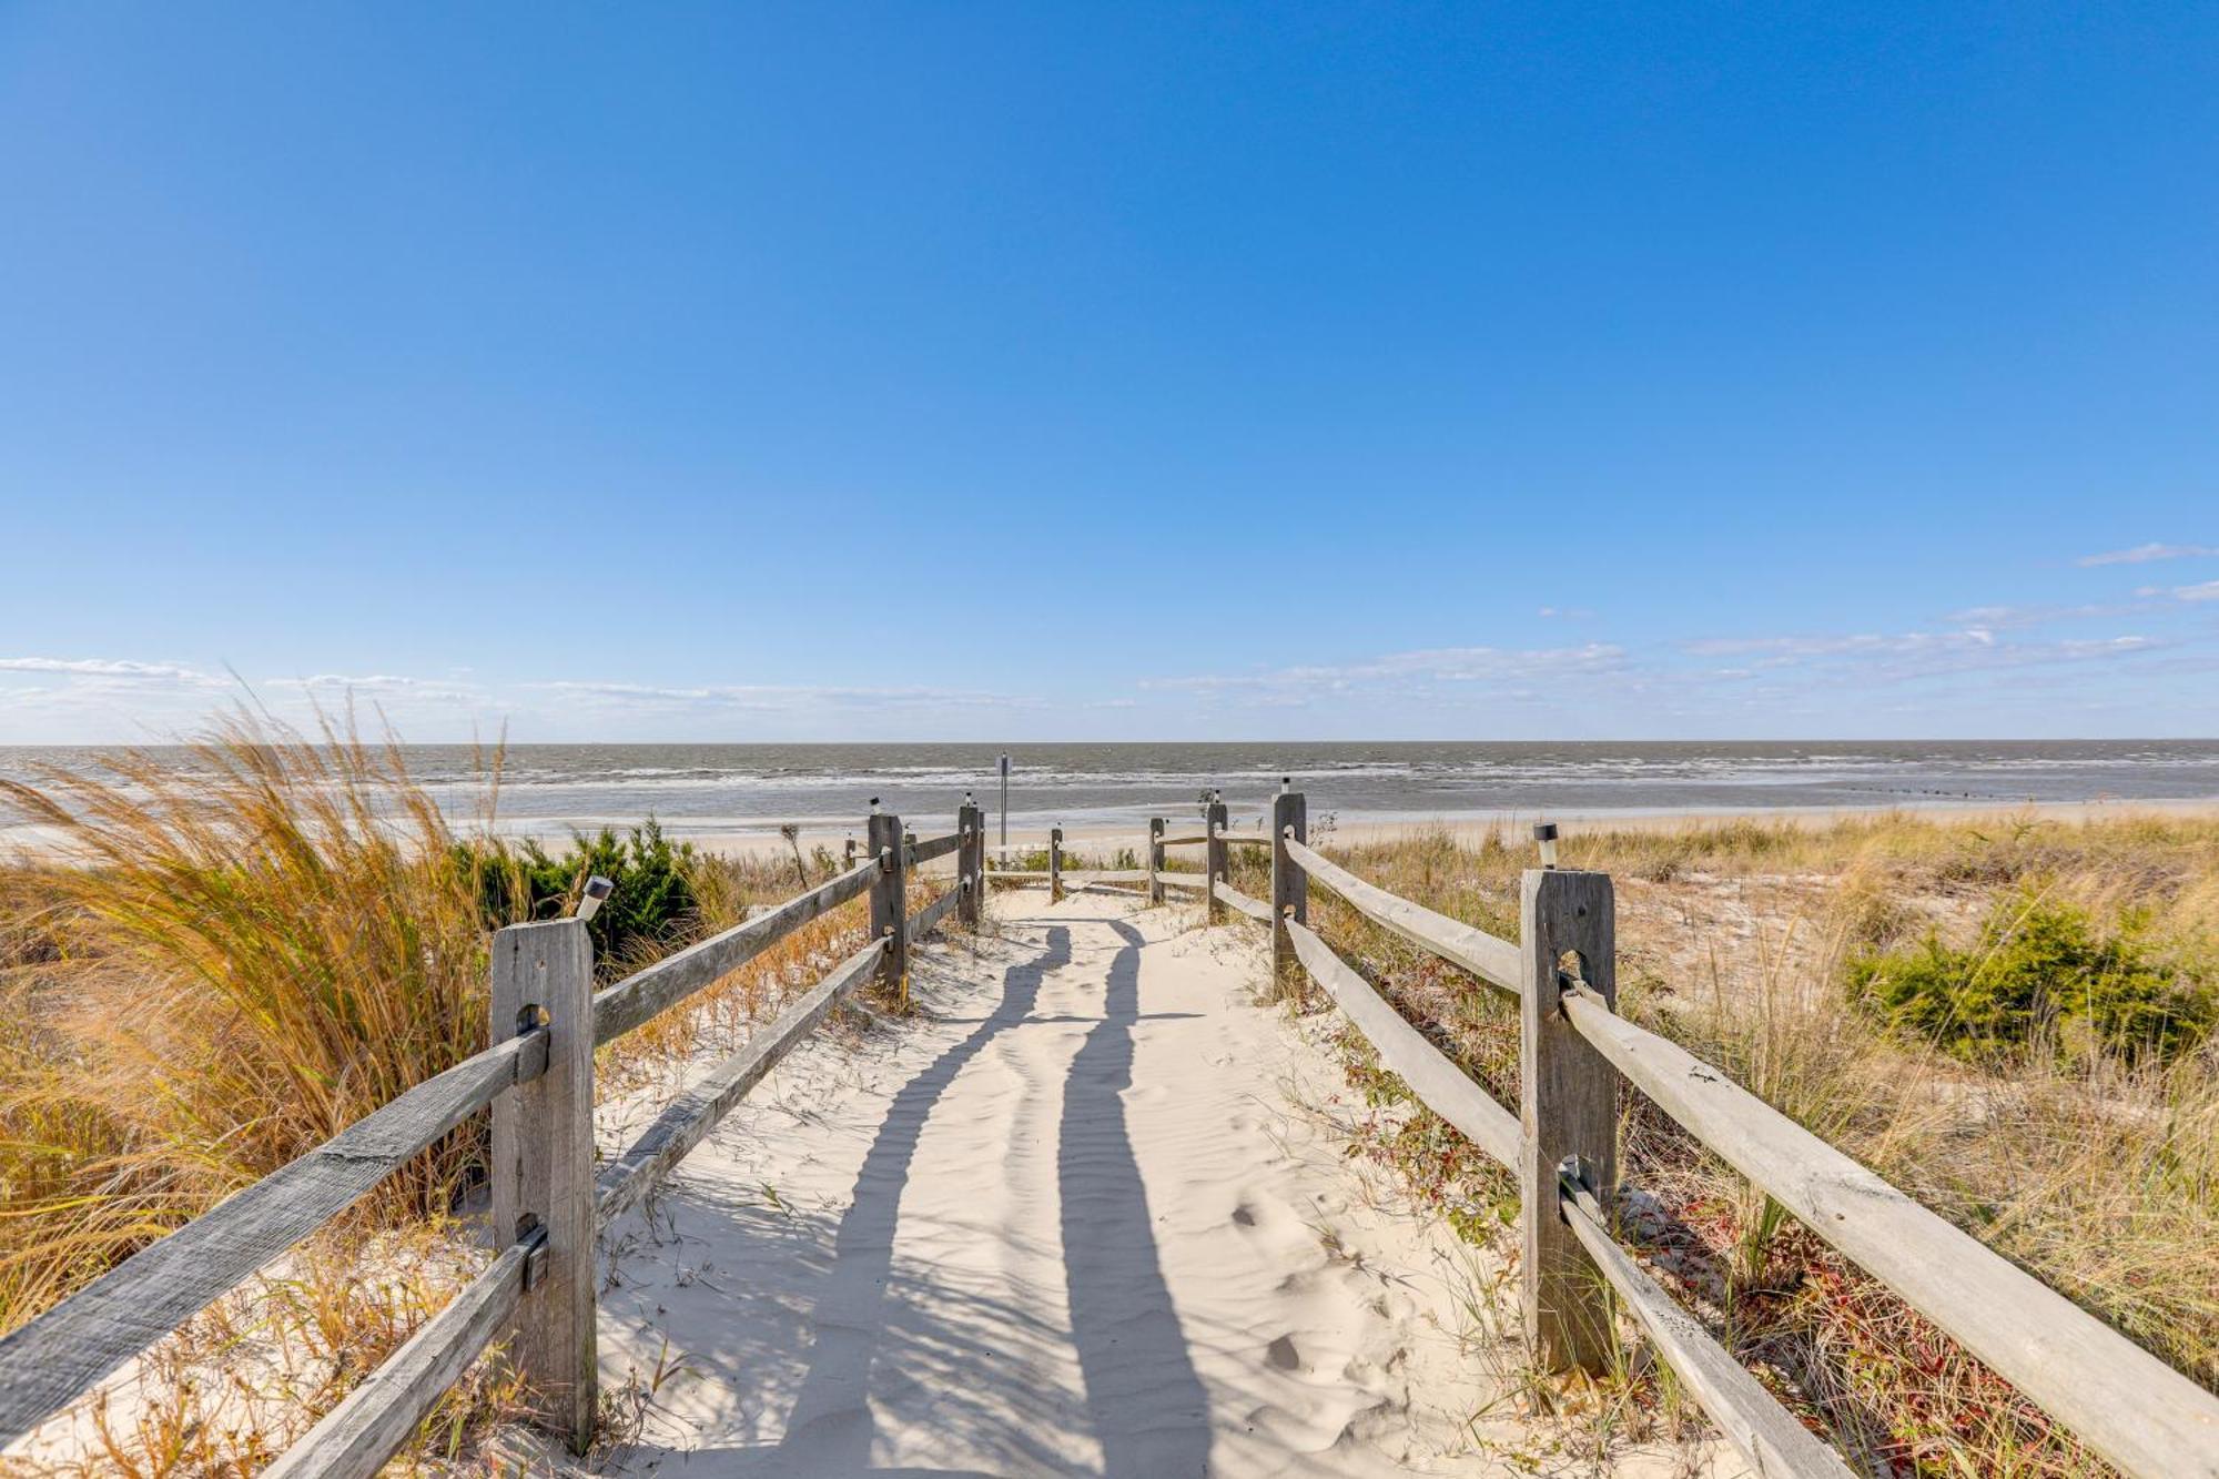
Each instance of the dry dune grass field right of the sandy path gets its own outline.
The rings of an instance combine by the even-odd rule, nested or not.
[[[1527,848],[1422,835],[1334,853],[1394,893],[1518,935]],[[1618,879],[1627,1015],[2219,1386],[2219,1050],[2208,1017],[2135,1044],[2075,1035],[2053,1017],[1966,1053],[1944,1030],[1948,1013],[1906,1022],[1866,999],[1873,962],[1931,964],[1935,950],[1959,953],[1959,975],[1942,970],[1948,979],[1926,986],[1977,993],[1999,910],[2024,915],[2026,899],[2081,915],[2097,955],[2128,933],[2137,999],[2208,999],[2219,984],[2219,824],[1735,822],[1573,835],[1564,866]],[[1234,871],[1236,886],[1260,888],[1260,859],[1236,857]],[[1323,891],[1314,899],[1327,935],[1398,1008],[1516,1104],[1511,1004]],[[2079,959],[2048,946],[2033,955],[2033,968]],[[2157,1037],[2166,1050],[2146,1050]],[[1345,1057],[1351,1086],[1380,1110],[1367,1153],[1467,1237],[1504,1237],[1511,1179],[1416,1110],[1360,1042]],[[2108,1472],[1646,1099],[1627,1090],[1622,1110],[1624,1175],[1640,1190],[1629,1230],[1713,1332],[1866,1472]],[[1624,1381],[1662,1392],[1653,1372]]]

